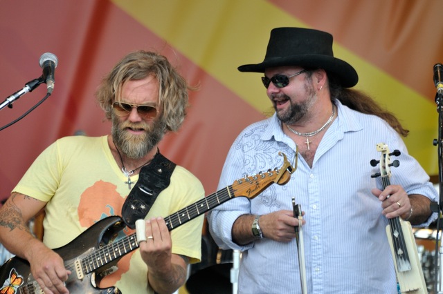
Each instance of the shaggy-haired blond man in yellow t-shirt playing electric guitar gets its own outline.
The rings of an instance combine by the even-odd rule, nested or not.
[[[154,52],[132,52],[116,64],[96,92],[111,135],[58,139],[0,209],[0,242],[32,273],[27,279],[12,266],[21,282],[15,286],[32,293],[172,293],[186,282],[188,264],[201,256],[203,218],[176,229],[163,217],[197,202],[204,189],[158,146],[183,123],[188,90]],[[26,224],[42,209],[40,241]],[[144,239],[133,237],[136,219],[145,219]],[[89,246],[95,255],[83,258]]]

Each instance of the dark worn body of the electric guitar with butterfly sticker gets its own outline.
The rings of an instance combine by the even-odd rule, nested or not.
[[[120,217],[107,217],[100,220],[93,226],[84,231],[78,237],[73,239],[69,244],[57,248],[54,251],[58,253],[64,260],[66,268],[70,268],[69,264],[74,264],[76,259],[81,259],[84,255],[88,255],[92,251],[96,251],[98,248],[107,244],[111,237],[115,236],[118,231],[123,229],[123,222]],[[104,271],[116,264],[115,262],[106,264],[100,268],[100,272]],[[105,294],[105,293],[120,293],[118,288],[96,288],[96,272],[85,273],[84,276],[79,279],[75,270],[71,270],[71,275],[66,281],[66,288],[69,289],[71,294]],[[17,283],[23,278],[21,283]],[[34,280],[33,275],[30,273],[29,263],[25,259],[20,257],[12,257],[0,268],[0,283],[3,286],[6,284],[12,284],[12,279],[15,279],[15,286],[13,287],[15,292],[8,293],[43,293],[37,282]],[[0,284],[1,285],[1,284]],[[3,293],[3,292],[0,292]]]

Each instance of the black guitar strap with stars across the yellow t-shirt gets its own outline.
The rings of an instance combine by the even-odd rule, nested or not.
[[[171,182],[176,164],[157,152],[150,164],[143,166],[138,181],[127,196],[122,208],[125,224],[134,229],[137,219],[144,219],[161,191]]]

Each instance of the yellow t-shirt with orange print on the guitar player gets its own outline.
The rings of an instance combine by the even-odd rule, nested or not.
[[[138,175],[131,180],[136,182]],[[107,136],[75,136],[59,139],[46,148],[14,191],[48,202],[43,222],[44,244],[60,248],[72,242],[66,246],[72,248],[68,257],[71,259],[71,255],[84,251],[81,238],[75,239],[80,233],[100,219],[121,215],[130,191],[125,182],[127,177],[111,154]],[[170,186],[160,193],[146,218],[168,217],[203,197],[204,188],[199,179],[176,166]],[[186,255],[192,263],[199,261],[203,220],[203,216],[199,216],[171,231],[172,253]],[[132,233],[134,231],[125,227],[117,238]],[[147,266],[138,250],[124,255],[117,266],[116,272],[101,280],[100,288],[116,286],[123,293],[154,293],[147,285]]]

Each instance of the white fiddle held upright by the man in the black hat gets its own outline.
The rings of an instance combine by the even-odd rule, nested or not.
[[[390,156],[399,156],[400,151],[394,150],[394,152],[389,153],[388,145],[383,143],[377,144],[377,151],[381,152],[380,161],[372,159],[371,165],[376,166],[380,163],[380,173],[372,175],[372,177],[379,177],[381,175],[384,189],[390,185],[390,166],[399,166],[398,160],[392,161],[392,164],[390,163]],[[417,244],[415,244],[415,237],[410,222],[406,222],[400,217],[389,219],[389,224],[386,226],[386,234],[388,235],[388,242],[392,258],[394,259],[395,272],[397,273],[401,293],[427,294],[422,265],[419,260]]]

